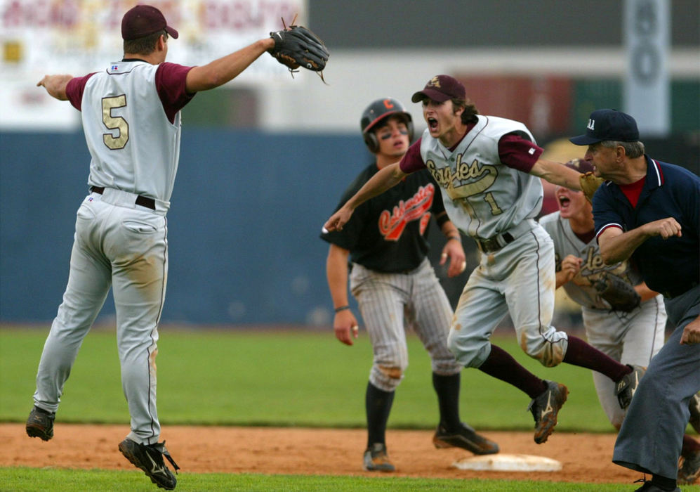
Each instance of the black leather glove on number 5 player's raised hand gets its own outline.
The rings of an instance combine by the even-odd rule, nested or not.
[[[284,25],[284,19],[282,19],[282,25]],[[328,62],[329,53],[323,41],[311,30],[301,25],[289,27],[284,25],[283,30],[270,32],[270,37],[275,40],[275,47],[269,51],[270,55],[289,68],[292,77],[293,73],[298,71],[296,70],[298,67],[304,67],[307,70],[319,72],[323,79],[323,70]]]

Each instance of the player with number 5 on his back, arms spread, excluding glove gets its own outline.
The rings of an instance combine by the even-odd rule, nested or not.
[[[27,434],[48,441],[63,385],[112,287],[121,381],[131,432],[119,451],[154,484],[172,489],[178,466],[156,408],[158,323],[168,278],[166,213],[180,157],[180,110],[197,91],[225,84],[275,47],[272,37],[199,67],[166,63],[178,32],[152,6],[121,21],[124,58],[85,77],[46,75],[37,84],[81,111],[91,154],[90,193],[77,212],[70,274],[37,373]]]

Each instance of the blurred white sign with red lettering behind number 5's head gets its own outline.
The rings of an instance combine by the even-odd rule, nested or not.
[[[77,124],[74,111],[54,110],[60,103],[37,96],[35,85],[45,74],[86,75],[121,60],[121,18],[136,4],[159,8],[178,30],[168,61],[183,65],[203,65],[268,37],[282,29],[283,18],[289,25],[296,15],[297,24],[309,25],[306,0],[0,0],[0,128]],[[271,56],[236,79],[291,82]]]

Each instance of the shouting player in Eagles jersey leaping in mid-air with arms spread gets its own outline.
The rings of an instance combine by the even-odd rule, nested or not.
[[[530,396],[538,444],[553,432],[568,389],[541,380],[491,344],[492,333],[508,313],[529,356],[546,367],[566,362],[605,374],[617,383],[621,406],[627,406],[641,368],[621,364],[550,324],[555,259],[552,239],[534,220],[543,197],[539,177],[581,189],[581,174],[540,159],[542,149],[524,124],[479,115],[461,82],[449,75],[432,77],[411,100],[423,104],[428,128],[422,138],[400,162],[381,169],[360,188],[325,228],[342,229],[359,204],[427,167],[440,185],[450,220],[475,239],[481,252],[449,332],[448,346],[457,360]]]

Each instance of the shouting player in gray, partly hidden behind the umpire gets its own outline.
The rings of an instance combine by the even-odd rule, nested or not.
[[[593,164],[575,159],[567,167],[582,173],[593,171]],[[626,259],[606,265],[595,239],[593,207],[581,191],[563,186],[555,188],[559,210],[539,219],[554,241],[557,262],[557,288],[564,287],[569,297],[581,305],[583,326],[588,343],[616,361],[646,367],[661,350],[666,328],[666,307],[663,295],[649,289],[641,274]],[[611,309],[594,285],[603,273],[623,278],[634,285],[641,304],[631,311]],[[620,429],[626,410],[614,398],[613,384],[593,371],[598,400],[616,429]],[[689,403],[691,425],[700,432],[700,394]],[[684,434],[681,456],[685,466],[678,470],[678,482],[690,484],[700,472],[700,443]],[[695,463],[690,466],[691,463]]]

